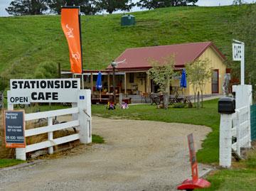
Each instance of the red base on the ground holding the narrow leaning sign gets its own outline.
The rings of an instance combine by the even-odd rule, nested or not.
[[[207,180],[203,180],[202,178],[199,178],[196,182],[193,182],[193,180],[185,180],[182,182],[181,185],[177,187],[178,190],[193,190],[196,188],[204,188],[204,187],[210,187],[210,182]]]

